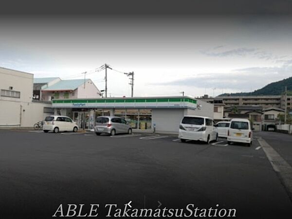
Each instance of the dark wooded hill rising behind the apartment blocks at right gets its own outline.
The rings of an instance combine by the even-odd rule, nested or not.
[[[253,92],[223,93],[219,96],[253,96],[253,95],[282,95],[287,86],[287,94],[292,95],[292,77],[273,82]]]

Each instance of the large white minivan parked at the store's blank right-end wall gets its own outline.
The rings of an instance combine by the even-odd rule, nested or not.
[[[179,138],[186,140],[199,140],[209,144],[217,141],[218,132],[213,119],[201,116],[184,116],[179,129]]]

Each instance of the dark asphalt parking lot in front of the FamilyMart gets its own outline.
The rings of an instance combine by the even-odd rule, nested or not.
[[[256,138],[247,147],[225,139],[181,143],[166,134],[0,130],[0,216],[51,218],[60,203],[132,201],[140,208],[219,204],[236,208],[237,218],[287,218],[291,200]]]

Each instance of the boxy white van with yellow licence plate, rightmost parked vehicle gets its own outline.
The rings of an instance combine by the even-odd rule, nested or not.
[[[227,143],[246,143],[251,146],[253,143],[253,130],[248,119],[232,119],[228,128]]]

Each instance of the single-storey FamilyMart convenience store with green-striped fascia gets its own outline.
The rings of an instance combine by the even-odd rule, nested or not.
[[[120,116],[133,129],[177,133],[184,115],[213,118],[213,104],[188,96],[53,100],[56,115],[73,118],[79,129],[92,129],[98,116]]]

